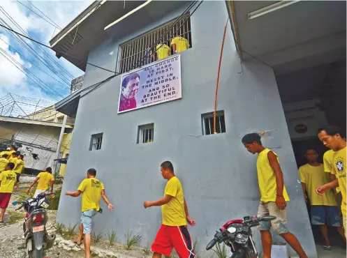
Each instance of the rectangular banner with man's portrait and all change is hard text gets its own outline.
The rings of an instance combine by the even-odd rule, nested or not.
[[[118,113],[182,98],[181,59],[170,56],[121,76]]]

